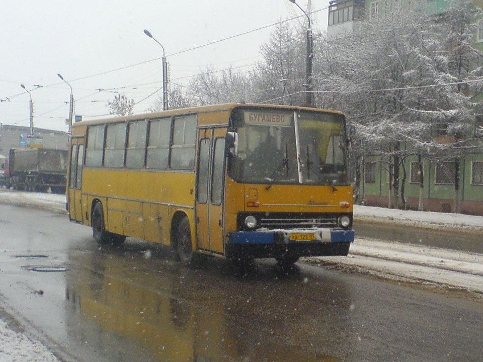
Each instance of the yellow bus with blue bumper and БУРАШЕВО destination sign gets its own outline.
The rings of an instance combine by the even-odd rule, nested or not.
[[[223,104],[76,122],[67,209],[98,242],[126,236],[234,260],[347,255],[344,115]]]

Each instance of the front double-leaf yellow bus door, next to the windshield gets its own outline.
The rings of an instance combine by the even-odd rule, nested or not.
[[[200,129],[196,184],[198,248],[223,253],[223,180],[226,129]]]

